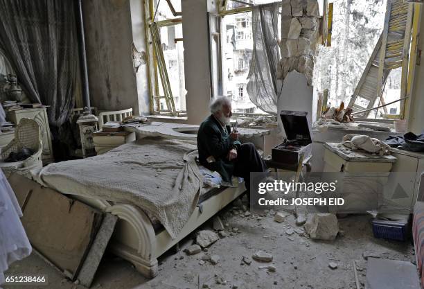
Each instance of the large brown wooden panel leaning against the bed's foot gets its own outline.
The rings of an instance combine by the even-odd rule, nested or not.
[[[75,279],[102,213],[33,182],[22,225],[31,245],[70,279]]]

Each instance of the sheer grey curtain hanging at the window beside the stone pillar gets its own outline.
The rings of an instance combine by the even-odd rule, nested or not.
[[[252,30],[254,48],[247,76],[247,93],[260,110],[276,114],[281,85],[277,85],[277,64],[280,59],[278,37],[279,4],[254,6]]]

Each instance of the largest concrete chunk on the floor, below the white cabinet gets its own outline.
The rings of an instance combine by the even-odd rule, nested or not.
[[[337,217],[333,213],[310,214],[304,227],[310,238],[317,240],[334,240],[339,232]]]

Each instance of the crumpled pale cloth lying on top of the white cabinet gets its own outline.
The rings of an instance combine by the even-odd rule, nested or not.
[[[342,139],[343,146],[352,150],[365,150],[376,155],[390,155],[390,146],[364,134],[346,134]]]

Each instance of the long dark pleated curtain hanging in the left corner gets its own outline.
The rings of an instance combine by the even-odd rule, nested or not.
[[[0,49],[30,101],[50,105],[47,114],[53,132],[69,118],[76,95],[74,3],[0,0]]]

